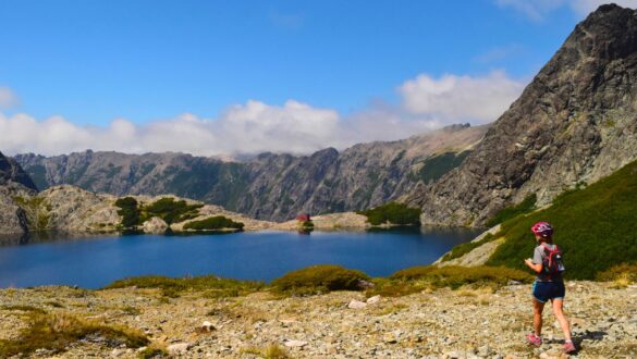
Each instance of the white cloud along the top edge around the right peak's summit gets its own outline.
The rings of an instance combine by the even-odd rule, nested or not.
[[[585,17],[604,3],[637,8],[637,0],[495,0],[495,3],[500,7],[513,8],[535,21],[543,20],[551,11],[564,5],[568,5],[580,17]]]

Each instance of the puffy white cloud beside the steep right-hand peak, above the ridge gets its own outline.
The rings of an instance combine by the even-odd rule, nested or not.
[[[437,116],[446,123],[488,123],[511,106],[525,85],[525,82],[509,78],[503,71],[481,77],[443,75],[433,78],[422,74],[405,82],[399,91],[411,113]]]

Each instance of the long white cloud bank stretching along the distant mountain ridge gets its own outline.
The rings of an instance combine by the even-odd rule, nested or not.
[[[421,74],[397,88],[400,103],[377,102],[348,115],[295,100],[282,106],[249,100],[213,119],[185,113],[143,125],[115,119],[106,127],[82,126],[62,116],[38,121],[27,114],[0,113],[0,150],[47,156],[86,149],[175,151],[225,158],[264,151],[310,153],[406,138],[453,123],[491,122],[524,85],[500,71],[477,77]]]

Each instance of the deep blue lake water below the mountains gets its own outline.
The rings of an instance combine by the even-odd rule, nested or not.
[[[429,264],[476,235],[468,230],[390,232],[244,232],[225,235],[125,235],[64,239],[3,239],[0,287],[78,285],[159,274],[269,282],[311,264],[331,263],[372,276]]]

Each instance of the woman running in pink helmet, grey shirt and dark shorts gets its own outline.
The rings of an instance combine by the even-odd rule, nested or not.
[[[526,336],[528,343],[540,346],[542,344],[542,311],[547,301],[551,301],[553,314],[560,322],[564,332],[564,352],[575,351],[575,345],[571,338],[568,320],[564,315],[564,281],[562,272],[562,252],[553,243],[553,227],[547,222],[538,222],[531,227],[538,246],[534,251],[534,258],[526,259],[525,263],[537,273],[532,287],[534,295],[534,334]]]

